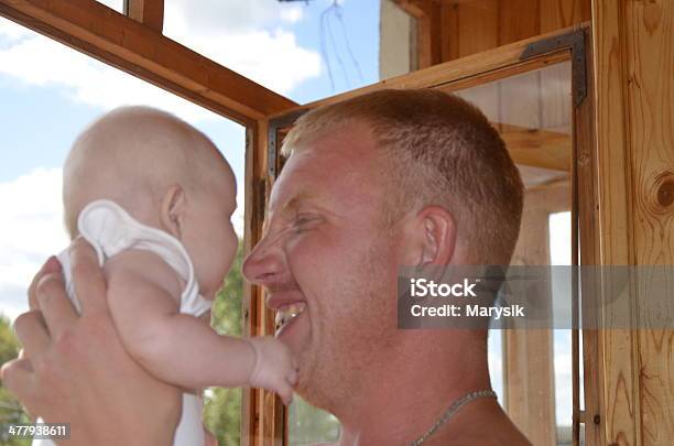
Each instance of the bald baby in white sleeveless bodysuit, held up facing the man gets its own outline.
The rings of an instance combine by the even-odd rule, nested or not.
[[[204,387],[260,387],[290,402],[296,370],[283,344],[219,336],[208,325],[238,239],[233,173],[204,134],[150,108],[112,111],[75,142],[63,197],[70,237],[86,238],[98,253],[126,349],[184,389],[174,445],[204,444]],[[67,252],[59,260],[79,309]]]

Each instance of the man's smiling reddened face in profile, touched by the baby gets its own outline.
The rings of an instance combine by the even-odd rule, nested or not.
[[[396,259],[381,228],[381,163],[363,126],[293,154],[243,274],[268,290],[298,391],[329,407],[359,385],[395,331]],[[352,394],[352,393],[351,393]]]

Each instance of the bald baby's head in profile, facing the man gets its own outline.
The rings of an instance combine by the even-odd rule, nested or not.
[[[140,222],[184,246],[202,293],[211,298],[237,251],[231,167],[202,132],[148,107],[124,107],[94,122],[75,141],[64,167],[66,228],[96,199],[111,199]]]

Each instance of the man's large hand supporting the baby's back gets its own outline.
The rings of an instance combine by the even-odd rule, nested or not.
[[[78,239],[70,260],[81,316],[65,293],[58,261],[50,259],[29,289],[33,309],[14,323],[24,352],[0,370],[4,385],[33,415],[70,423],[68,446],[171,445],[181,391],[123,349],[94,250]]]

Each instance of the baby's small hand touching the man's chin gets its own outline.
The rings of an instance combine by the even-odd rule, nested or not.
[[[297,367],[290,349],[271,336],[249,338],[256,351],[256,365],[250,376],[250,385],[272,390],[284,404],[293,400],[293,387],[297,382]]]

